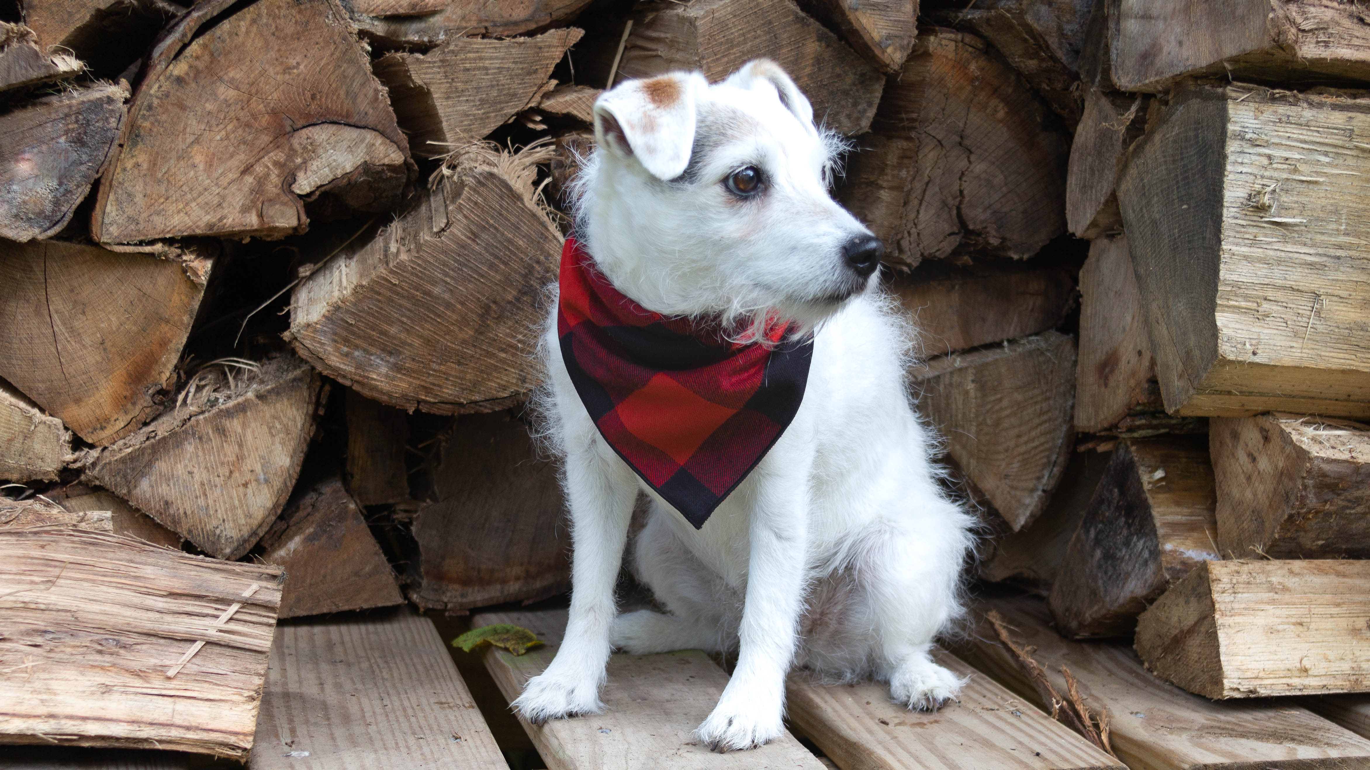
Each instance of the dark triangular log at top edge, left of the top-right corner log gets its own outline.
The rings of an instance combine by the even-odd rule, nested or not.
[[[969,26],[993,45],[1051,104],[1066,126],[1080,122],[1080,49],[1095,0],[941,0],[930,16]]]

